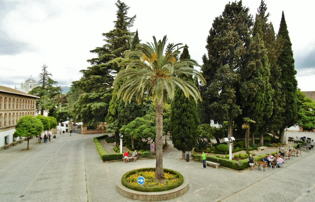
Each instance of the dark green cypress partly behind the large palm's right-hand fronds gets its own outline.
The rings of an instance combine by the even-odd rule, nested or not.
[[[190,59],[188,47],[185,46],[180,60]],[[179,77],[192,81],[192,76],[179,75]],[[170,132],[173,145],[182,151],[182,159],[186,160],[186,151],[191,151],[197,143],[197,129],[200,125],[196,101],[190,97],[186,98],[181,89],[176,89],[174,100],[171,104]]]

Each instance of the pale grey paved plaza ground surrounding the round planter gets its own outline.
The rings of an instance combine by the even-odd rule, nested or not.
[[[117,194],[117,180],[129,170],[155,167],[155,159],[104,163],[93,141],[96,136],[100,134],[57,134],[56,142],[47,144],[31,139],[30,150],[24,141],[0,151],[0,201],[132,201]],[[313,139],[315,133],[288,131],[288,136]],[[256,167],[202,169],[202,163],[179,160],[181,152],[167,141],[163,166],[185,175],[190,187],[169,201],[315,201],[314,151],[267,172]]]

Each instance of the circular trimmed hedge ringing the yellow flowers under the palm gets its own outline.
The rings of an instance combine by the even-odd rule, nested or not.
[[[176,181],[175,183],[172,184],[167,184],[165,186],[162,187],[142,187],[142,186],[135,186],[130,184],[129,182],[127,182],[127,178],[129,177],[129,175],[135,174],[136,172],[139,171],[155,171],[155,167],[148,167],[148,168],[140,168],[140,169],[135,169],[135,170],[131,170],[127,173],[125,173],[123,175],[123,177],[121,178],[121,183],[123,184],[123,186],[135,190],[135,191],[142,191],[142,192],[160,192],[160,191],[167,191],[167,190],[171,190],[171,189],[175,189],[176,187],[179,187],[182,183],[184,183],[184,178],[182,176],[182,174],[178,173],[175,170],[171,170],[171,169],[167,169],[164,168],[164,173],[170,173],[173,175],[177,175],[179,177],[179,180]]]

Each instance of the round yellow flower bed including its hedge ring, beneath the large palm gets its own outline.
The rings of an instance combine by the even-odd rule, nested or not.
[[[159,191],[167,191],[171,189],[175,189],[179,187],[183,182],[183,176],[170,169],[164,168],[166,183],[158,183],[154,182],[155,168],[140,168],[131,170],[125,173],[121,179],[123,186],[142,192],[159,192]],[[145,178],[145,183],[140,186],[137,182],[139,176]]]

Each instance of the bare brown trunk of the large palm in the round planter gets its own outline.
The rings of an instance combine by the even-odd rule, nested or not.
[[[156,103],[156,138],[155,138],[155,177],[154,182],[165,183],[165,174],[163,170],[163,103],[159,104],[157,99]]]

